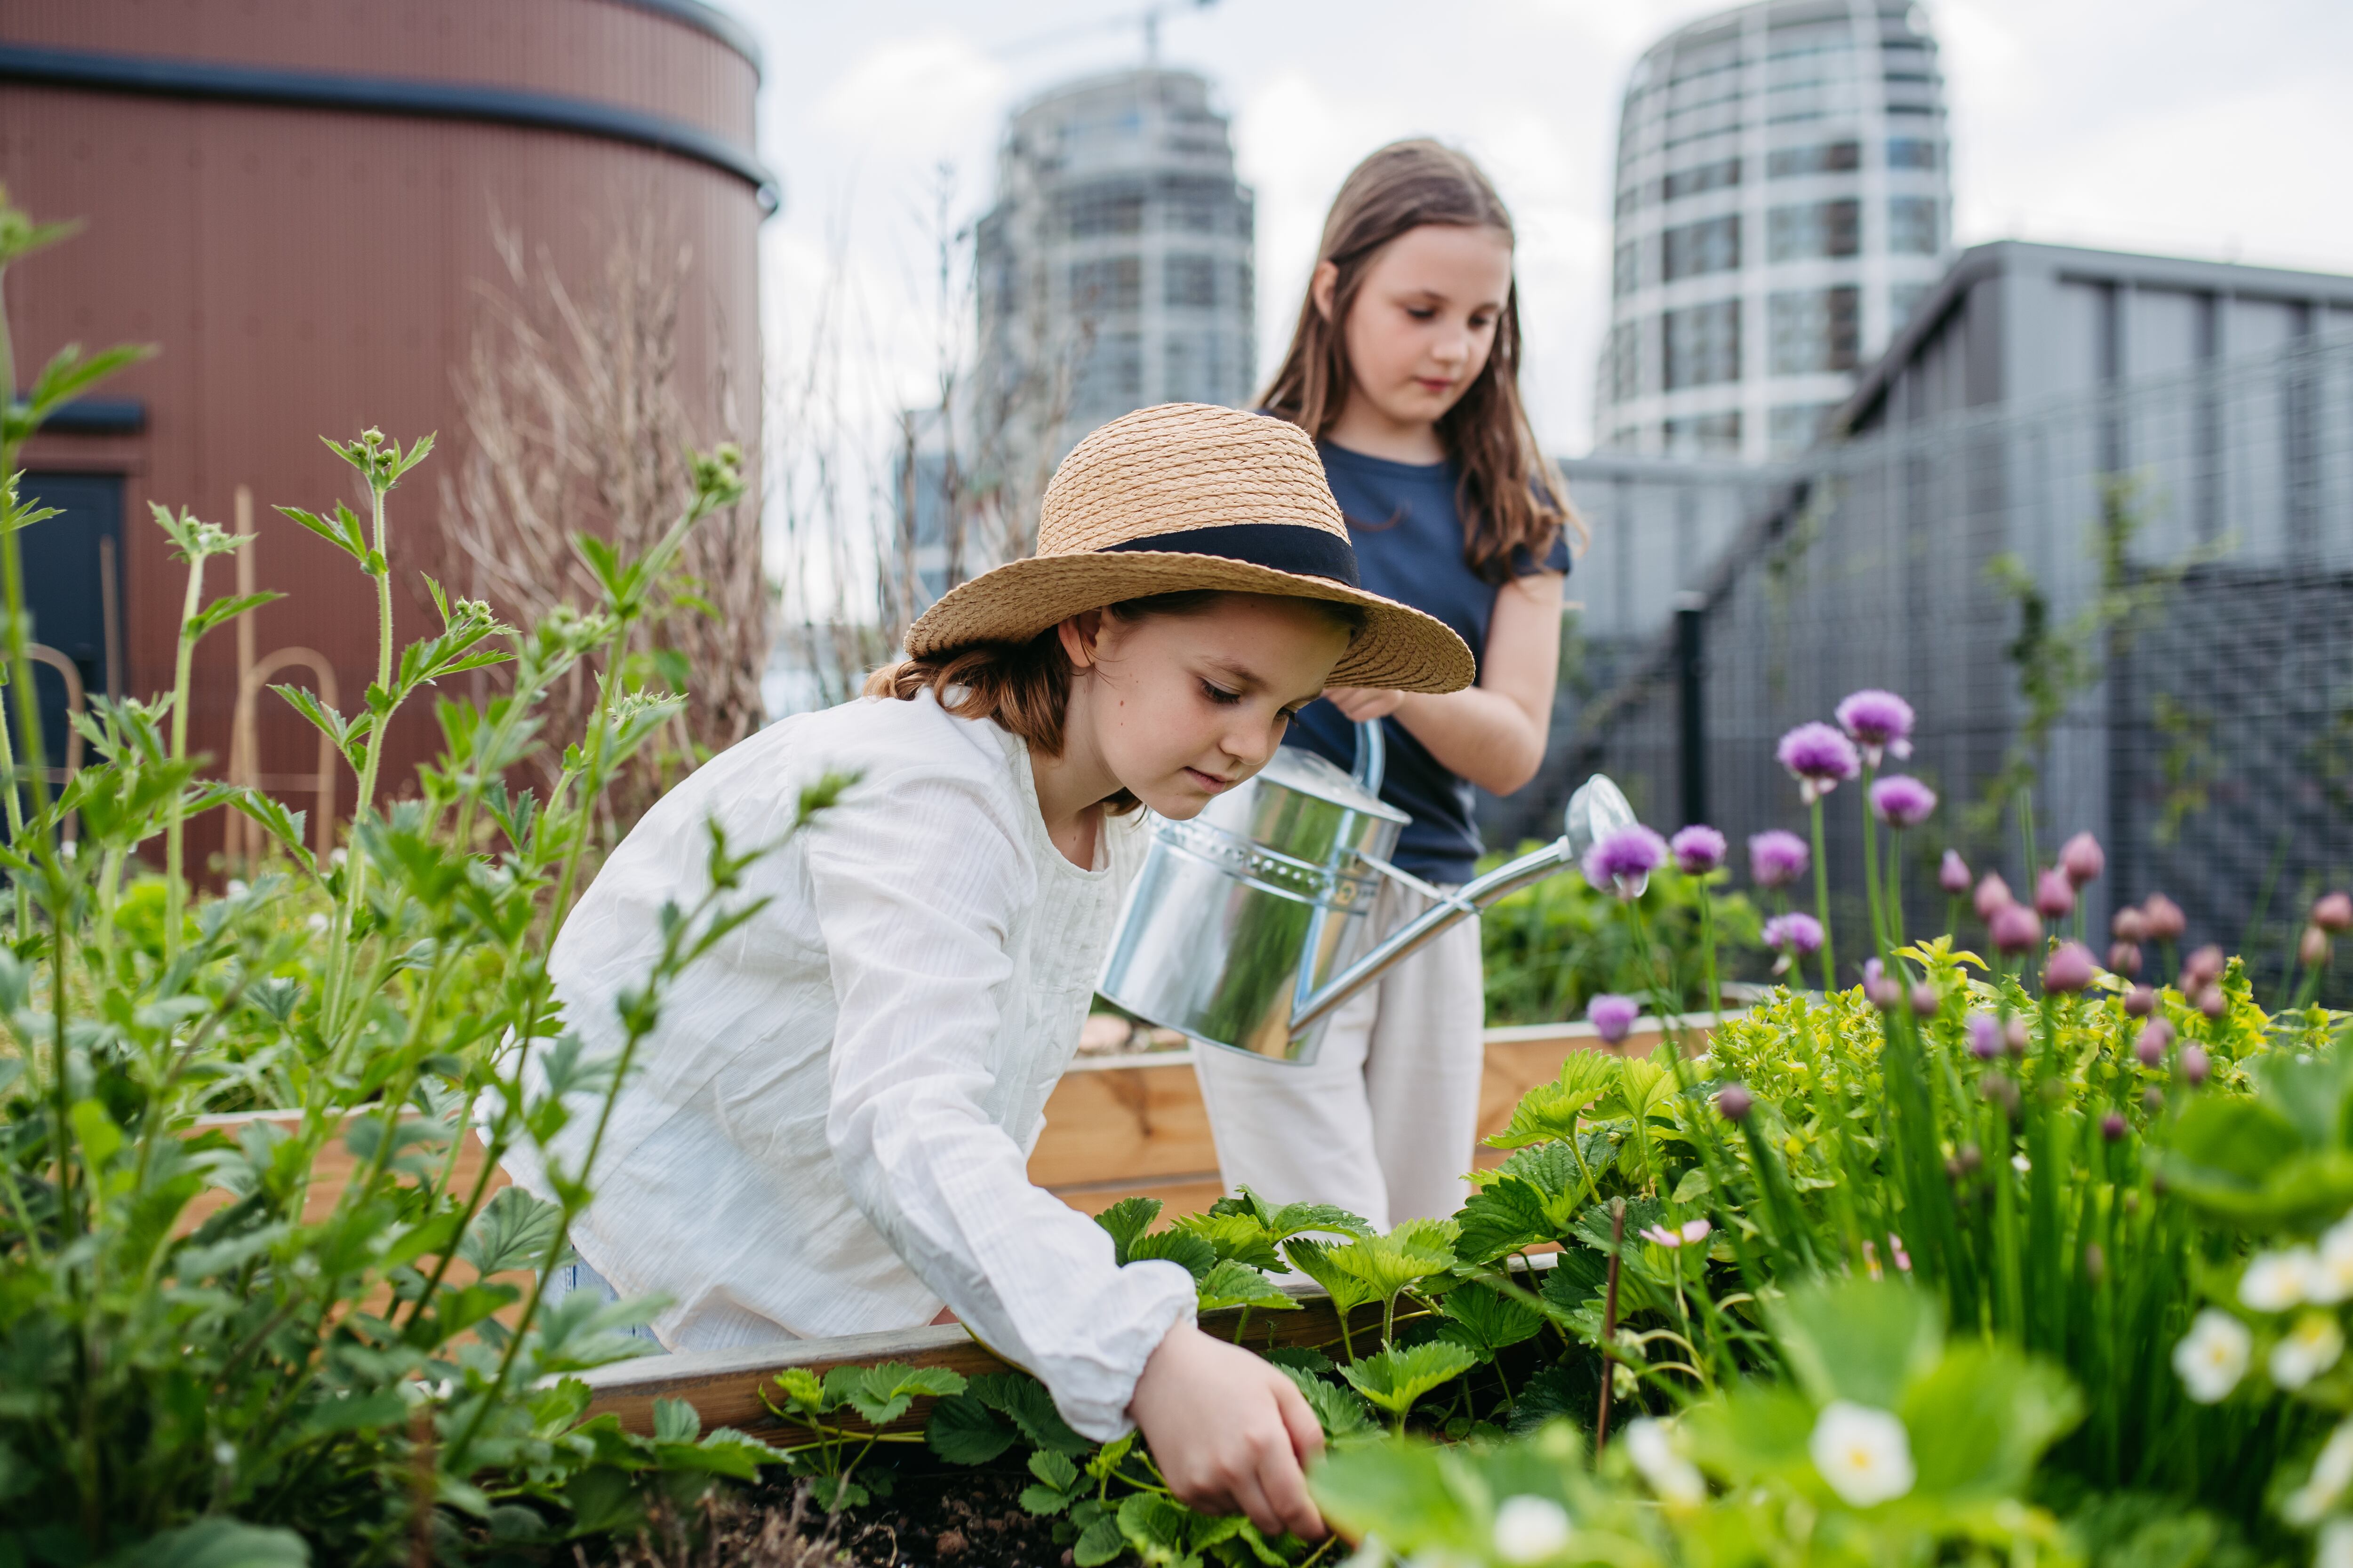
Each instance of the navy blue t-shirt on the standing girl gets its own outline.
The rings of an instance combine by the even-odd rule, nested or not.
[[[1461,470],[1454,463],[1391,463],[1329,442],[1318,449],[1365,588],[1445,621],[1471,644],[1473,658],[1482,656],[1499,588],[1464,562],[1464,524],[1454,510]],[[1518,576],[1567,571],[1567,538],[1555,536],[1544,562],[1522,552],[1513,569]],[[1424,882],[1468,882],[1482,849],[1471,823],[1471,785],[1395,719],[1381,726],[1388,731],[1381,799],[1414,818],[1398,837],[1395,863]],[[1341,769],[1355,762],[1355,724],[1332,703],[1308,703],[1282,743],[1320,752]]]

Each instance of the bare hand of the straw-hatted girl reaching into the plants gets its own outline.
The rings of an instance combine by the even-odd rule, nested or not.
[[[1292,1380],[1238,1345],[1181,1321],[1144,1363],[1127,1413],[1179,1502],[1249,1514],[1266,1535],[1322,1540],[1301,1465],[1322,1427]]]

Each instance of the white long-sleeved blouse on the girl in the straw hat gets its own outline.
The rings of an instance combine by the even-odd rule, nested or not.
[[[619,1051],[614,997],[645,983],[661,905],[708,889],[704,820],[734,853],[776,842],[828,769],[856,783],[751,867],[744,896],[767,907],[640,1041],[572,1244],[624,1298],[671,1298],[652,1324],[668,1349],[915,1328],[946,1302],[1078,1432],[1118,1436],[1193,1281],[1118,1267],[1026,1164],[1144,813],[1106,818],[1080,870],[1045,832],[1028,748],[995,722],[929,693],[784,719],[671,790],[598,872],[551,959],[565,1025],[588,1056]],[[555,1145],[567,1161],[584,1110]],[[548,1192],[536,1157],[506,1166]]]

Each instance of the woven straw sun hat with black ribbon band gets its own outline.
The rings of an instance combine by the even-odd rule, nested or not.
[[[1073,447],[1045,491],[1038,555],[948,590],[908,628],[906,651],[1028,642],[1082,611],[1191,588],[1362,609],[1334,686],[1461,691],[1475,675],[1445,623],[1358,588],[1355,545],[1306,430],[1198,402],[1136,409]]]

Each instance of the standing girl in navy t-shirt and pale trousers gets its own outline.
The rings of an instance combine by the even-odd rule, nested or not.
[[[1511,214],[1435,141],[1348,174],[1264,411],[1315,437],[1365,588],[1452,625],[1478,684],[1449,696],[1334,689],[1287,745],[1339,766],[1381,719],[1381,797],[1412,816],[1395,865],[1438,889],[1480,853],[1471,788],[1511,795],[1544,762],[1567,534],[1584,524],[1520,409]],[[1388,884],[1374,936],[1428,907]],[[1344,1006],[1308,1067],[1205,1051],[1228,1187],[1353,1208],[1379,1227],[1454,1213],[1478,1124],[1485,987],[1466,919]]]

